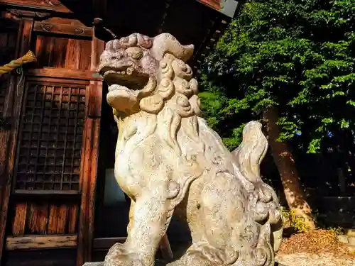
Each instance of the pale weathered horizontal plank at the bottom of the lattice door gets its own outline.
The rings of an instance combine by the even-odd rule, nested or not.
[[[6,238],[6,250],[74,248],[77,235],[24,235]]]

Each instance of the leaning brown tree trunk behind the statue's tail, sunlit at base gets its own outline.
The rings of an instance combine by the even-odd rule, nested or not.
[[[310,230],[315,229],[315,221],[311,213],[312,209],[307,203],[305,192],[300,185],[300,179],[293,160],[293,155],[290,152],[287,143],[277,141],[280,135],[278,128],[278,109],[270,108],[263,111],[263,120],[266,122],[266,132],[268,135],[268,142],[273,154],[280,178],[283,183],[283,190],[285,192],[285,199],[290,210],[295,211],[297,216],[304,219],[305,225]]]

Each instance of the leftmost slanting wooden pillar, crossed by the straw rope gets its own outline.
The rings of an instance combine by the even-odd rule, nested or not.
[[[16,58],[25,55],[30,49],[33,18],[21,19],[18,28],[18,40],[16,44]],[[13,59],[16,59],[13,58]],[[23,99],[24,79],[20,82],[15,76],[10,77],[10,84],[6,102],[4,104],[4,116],[10,118],[11,131],[0,133],[0,265],[5,244],[6,220],[9,210],[9,197],[13,180],[13,166],[16,154],[16,140],[18,135],[18,123],[21,116],[21,103]]]

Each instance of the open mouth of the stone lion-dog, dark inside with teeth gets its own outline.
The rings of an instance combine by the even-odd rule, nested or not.
[[[104,66],[100,70],[100,73],[109,85],[109,92],[121,87],[131,90],[141,90],[146,86],[149,79],[148,74],[141,72],[138,67],[132,65]]]

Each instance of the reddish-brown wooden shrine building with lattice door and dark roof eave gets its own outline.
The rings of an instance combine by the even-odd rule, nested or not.
[[[94,75],[110,37],[104,27],[117,38],[172,33],[195,45],[190,65],[196,67],[237,6],[234,0],[0,0],[0,65],[28,50],[37,58],[0,76],[2,266],[82,266],[103,260],[125,239],[128,206],[113,180],[116,124],[107,87]],[[94,18],[102,25],[94,26]]]

